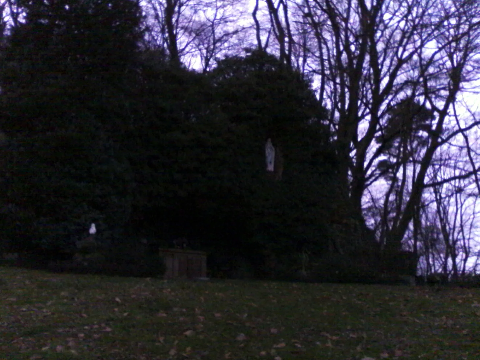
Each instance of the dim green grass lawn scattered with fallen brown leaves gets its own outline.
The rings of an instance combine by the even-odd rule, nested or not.
[[[0,359],[480,359],[480,289],[0,267]]]

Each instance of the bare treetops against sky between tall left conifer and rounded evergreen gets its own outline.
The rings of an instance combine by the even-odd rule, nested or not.
[[[219,54],[241,48],[241,35],[250,26],[241,24],[242,5],[233,0],[144,0],[150,45],[166,49],[175,66],[208,70]]]

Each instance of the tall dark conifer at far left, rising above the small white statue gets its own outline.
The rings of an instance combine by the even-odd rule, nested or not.
[[[141,9],[131,0],[18,5],[25,15],[7,38],[0,71],[2,203],[17,225],[10,236],[65,250],[95,222],[99,238],[111,240],[130,212],[119,140],[131,121],[125,83]]]

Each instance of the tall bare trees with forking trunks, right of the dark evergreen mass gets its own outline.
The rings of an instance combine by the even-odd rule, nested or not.
[[[276,7],[272,4],[268,10],[276,39],[285,42],[279,45],[280,56],[283,51],[288,63],[290,32],[278,15],[278,4],[283,7],[283,2]],[[425,144],[416,155],[415,171],[406,162],[398,162],[402,164],[398,174],[404,177],[399,184],[405,184],[398,191],[407,194],[408,185],[408,197],[394,210],[397,220],[386,234],[386,246],[399,249],[420,204],[435,152],[479,124],[470,118],[462,128],[450,126],[459,94],[480,70],[476,60],[480,3],[303,0],[297,5],[302,18],[296,20],[307,22],[316,38],[318,52],[309,61],[318,63],[321,94],[331,109],[330,123],[336,134],[342,184],[359,217],[365,190],[383,171],[377,165],[389,139],[380,143],[375,139],[384,135],[392,109],[412,99],[434,116],[430,128],[422,129]],[[470,169],[470,176],[477,170]]]

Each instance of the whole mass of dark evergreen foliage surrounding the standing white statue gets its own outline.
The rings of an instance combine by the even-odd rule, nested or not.
[[[22,4],[0,73],[3,250],[59,259],[95,222],[109,261],[186,237],[212,268],[235,257],[282,276],[356,236],[331,224],[348,223],[347,201],[326,110],[299,73],[260,51],[206,74],[171,67],[138,45],[131,0]],[[266,174],[267,138],[281,180]]]

